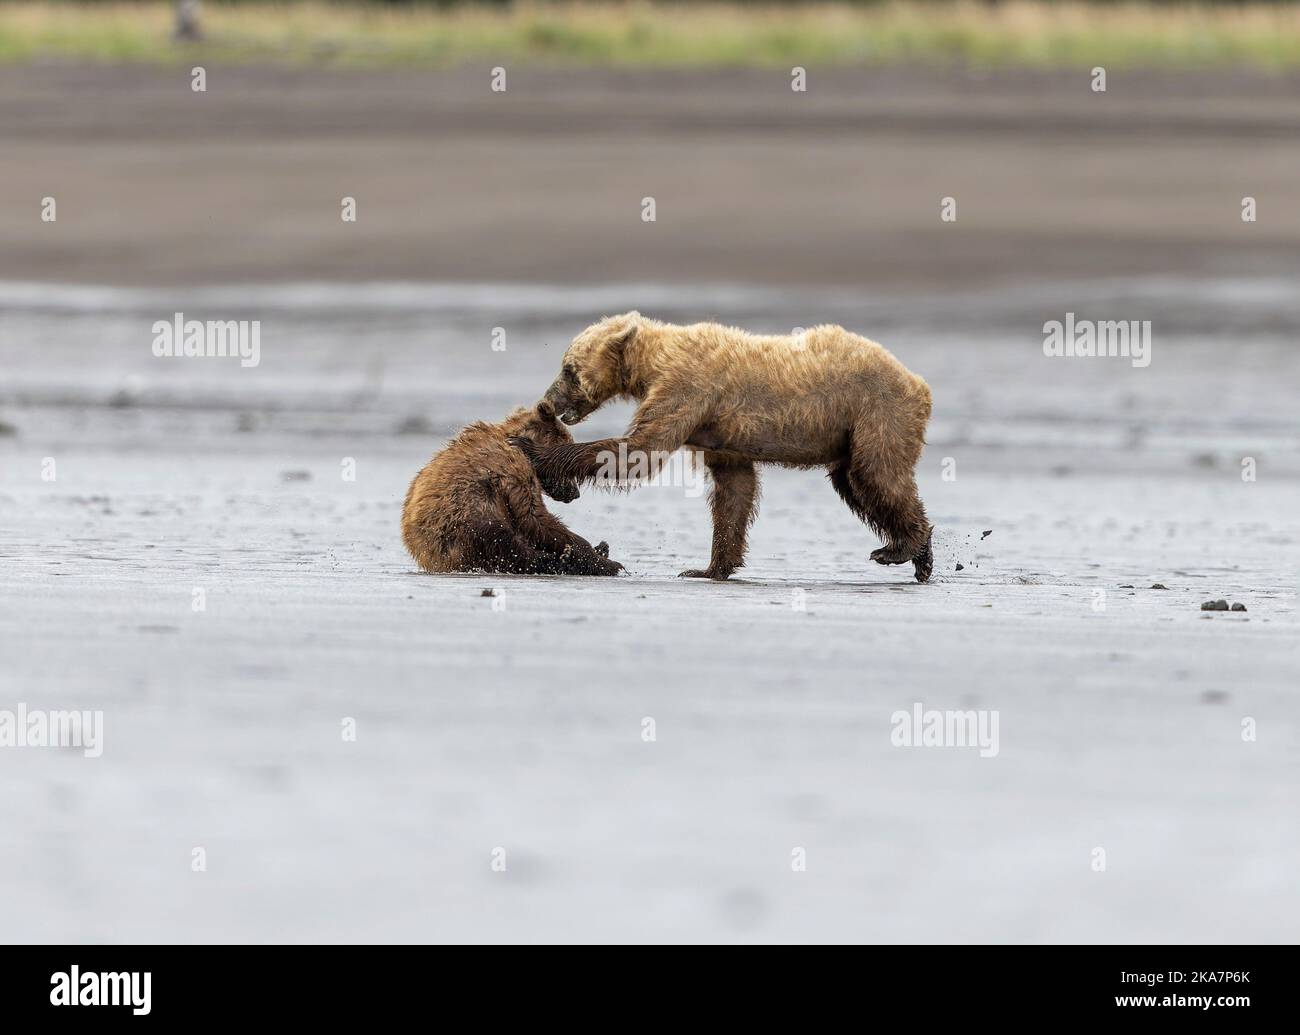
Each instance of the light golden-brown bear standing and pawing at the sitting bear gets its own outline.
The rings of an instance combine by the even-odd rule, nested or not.
[[[727,579],[744,564],[754,464],[775,463],[828,468],[844,502],[884,540],[872,560],[910,560],[916,581],[930,579],[932,527],[914,477],[930,386],[876,342],[833,325],[750,334],[629,312],[573,339],[543,403],[576,424],[615,398],[640,403],[624,438],[516,445],[538,472],[576,481],[607,472],[611,456],[649,456],[653,468],[681,446],[703,450],[712,554],[707,568],[682,576]]]

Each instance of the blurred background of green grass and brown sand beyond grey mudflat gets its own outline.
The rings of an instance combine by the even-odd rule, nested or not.
[[[0,4],[0,276],[1296,272],[1295,4],[181,9]]]

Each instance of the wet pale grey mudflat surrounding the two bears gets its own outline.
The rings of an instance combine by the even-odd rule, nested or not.
[[[408,478],[445,429],[536,394],[618,289],[234,289],[266,320],[256,369],[152,358],[157,313],[224,290],[0,285],[0,706],[104,713],[100,758],[0,750],[6,940],[1294,936],[1284,286],[642,285],[664,315],[824,312],[926,373],[927,586],[785,471],[731,584],[672,577],[708,542],[681,486],[558,508],[625,577],[421,576]],[[1152,365],[1043,356],[1070,299],[1140,299]],[[892,746],[916,703],[997,711],[997,755]]]

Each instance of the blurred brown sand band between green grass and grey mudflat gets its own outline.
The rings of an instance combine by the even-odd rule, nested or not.
[[[797,95],[753,70],[520,69],[491,94],[477,68],[238,68],[194,94],[185,73],[0,69],[0,278],[927,293],[1300,272],[1296,77],[1126,73],[1097,95],[1080,70],[836,70]]]

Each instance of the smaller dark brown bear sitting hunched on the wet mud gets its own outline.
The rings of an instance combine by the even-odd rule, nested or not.
[[[415,476],[402,507],[402,540],[429,572],[616,575],[608,546],[592,546],[546,510],[545,491],[568,503],[572,478],[537,475],[506,439],[571,445],[546,403],[500,424],[471,424]]]

